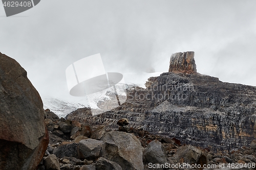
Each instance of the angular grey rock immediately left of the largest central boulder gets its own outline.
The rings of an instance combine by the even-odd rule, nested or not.
[[[103,156],[105,143],[101,140],[83,139],[78,143],[79,159],[96,160]]]

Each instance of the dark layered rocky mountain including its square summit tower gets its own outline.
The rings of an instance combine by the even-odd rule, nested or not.
[[[67,117],[115,127],[120,118],[152,133],[213,152],[248,146],[256,137],[256,87],[219,81],[196,72],[194,52],[172,55],[169,72],[151,77],[146,88],[127,89],[120,107],[97,116],[88,108]]]

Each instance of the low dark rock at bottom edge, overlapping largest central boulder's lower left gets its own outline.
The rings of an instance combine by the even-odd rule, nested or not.
[[[116,162],[100,157],[96,162],[96,170],[122,170],[122,167]]]

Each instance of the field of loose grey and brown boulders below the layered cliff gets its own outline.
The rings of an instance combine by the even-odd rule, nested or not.
[[[49,130],[50,143],[44,159],[38,166],[40,170],[231,170],[231,166],[236,164],[239,165],[236,169],[255,169],[255,140],[251,141],[250,147],[214,153],[209,148],[195,147],[181,143],[176,138],[149,133],[142,128],[133,128],[127,118],[115,120],[115,128],[111,128],[56,118],[57,115],[49,109],[46,112],[45,121],[52,120],[52,124],[48,124],[47,128],[55,128]],[[62,124],[71,126],[71,131],[61,130],[59,125]],[[88,129],[88,133],[84,133],[84,128]],[[62,133],[54,133],[56,131]],[[186,165],[181,168],[179,165],[183,163]],[[247,167],[248,165],[251,167]]]

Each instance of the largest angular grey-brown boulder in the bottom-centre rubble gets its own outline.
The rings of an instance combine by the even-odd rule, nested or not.
[[[125,132],[111,131],[106,133],[104,158],[118,163],[122,169],[143,169],[142,147],[134,135]]]

